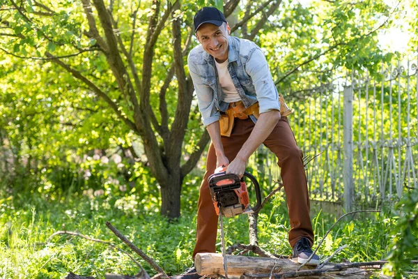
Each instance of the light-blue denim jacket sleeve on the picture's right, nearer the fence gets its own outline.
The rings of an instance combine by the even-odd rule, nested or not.
[[[247,63],[245,63],[245,71],[251,77],[256,89],[260,113],[270,110],[280,111],[279,94],[274,86],[267,60],[258,47],[254,52],[251,52]]]

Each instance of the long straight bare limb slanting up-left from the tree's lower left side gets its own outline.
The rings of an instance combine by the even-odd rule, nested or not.
[[[59,66],[64,68],[68,73],[70,73],[77,80],[81,80],[82,82],[84,82],[84,84],[86,84],[88,86],[88,88],[90,88],[98,97],[102,98],[104,100],[104,102],[106,102],[109,105],[109,107],[111,107],[111,109],[114,110],[114,112],[116,112],[116,115],[118,116],[119,119],[121,119],[130,129],[132,129],[132,130],[134,130],[135,132],[138,133],[137,126],[135,126],[135,124],[132,121],[130,121],[130,119],[127,119],[127,117],[123,114],[123,112],[121,110],[119,110],[118,105],[116,105],[116,103],[114,103],[111,100],[111,98],[109,98],[109,96],[107,96],[106,93],[101,91],[98,88],[98,86],[95,86],[95,84],[93,84],[93,82],[91,82],[86,77],[84,77],[84,75],[82,75],[82,73],[80,73],[78,70],[75,70],[74,68],[71,68],[70,66],[65,64],[63,61],[59,60],[57,57],[50,54],[49,52],[46,52],[45,54],[46,54],[47,57],[52,59],[52,61],[54,61],[54,63],[57,63]]]

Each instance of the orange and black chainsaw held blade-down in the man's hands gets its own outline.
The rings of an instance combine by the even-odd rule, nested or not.
[[[254,207],[250,205],[247,184],[244,181],[244,177],[247,177],[254,184],[257,199]],[[242,179],[236,174],[226,174],[225,166],[215,169],[215,173],[209,176],[208,181],[216,214],[217,216],[220,214],[219,229],[221,230],[222,257],[224,258],[225,277],[228,278],[222,217],[234,217],[240,214],[251,214],[258,211],[261,206],[260,185],[257,179],[249,172],[245,172]]]

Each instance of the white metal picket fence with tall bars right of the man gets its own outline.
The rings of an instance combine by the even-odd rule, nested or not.
[[[343,201],[350,209],[417,188],[417,66],[418,53],[395,66],[382,63],[374,77],[366,69],[354,71],[289,105],[295,110],[289,122],[305,161],[310,160],[312,199]],[[265,169],[277,179],[276,158],[266,156]]]

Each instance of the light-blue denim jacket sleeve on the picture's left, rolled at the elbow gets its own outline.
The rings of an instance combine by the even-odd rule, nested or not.
[[[190,59],[190,55],[187,58],[187,65],[189,66],[190,76],[192,77],[194,90],[196,91],[197,103],[203,125],[208,126],[211,123],[219,121],[221,118],[221,114],[215,105],[213,89],[208,84],[202,82],[202,78],[196,66],[194,66],[192,59]]]

